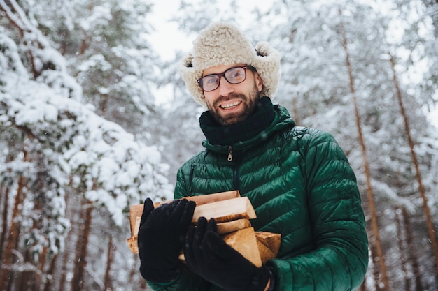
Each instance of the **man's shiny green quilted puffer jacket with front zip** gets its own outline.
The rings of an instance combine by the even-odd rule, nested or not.
[[[295,126],[280,105],[274,110],[271,126],[251,140],[232,147],[205,140],[206,150],[178,170],[175,197],[238,189],[253,204],[255,230],[281,234],[278,258],[267,263],[276,290],[353,290],[368,264],[355,174],[332,135]],[[222,290],[188,269],[173,283],[150,286]]]

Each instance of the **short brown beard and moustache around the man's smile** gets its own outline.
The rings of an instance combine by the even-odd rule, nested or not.
[[[230,100],[232,98],[239,98],[242,100],[241,105],[243,108],[239,112],[234,114],[226,114],[225,116],[220,114],[220,109],[218,109],[218,104],[222,103],[225,100]],[[246,96],[245,94],[234,94],[230,93],[228,96],[220,96],[213,104],[207,103],[207,108],[209,109],[210,114],[213,118],[220,124],[221,126],[230,126],[232,124],[237,124],[245,119],[248,119],[257,108],[257,103],[260,100],[260,92],[257,90],[257,87],[253,87]]]

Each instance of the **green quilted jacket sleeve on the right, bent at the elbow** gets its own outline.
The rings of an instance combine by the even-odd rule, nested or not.
[[[354,290],[368,264],[365,218],[355,174],[332,135],[317,131],[300,142],[314,251],[271,260],[276,290]]]

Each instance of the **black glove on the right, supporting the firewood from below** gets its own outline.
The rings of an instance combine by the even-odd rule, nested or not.
[[[190,270],[228,291],[263,291],[269,281],[267,267],[255,267],[219,237],[214,219],[189,227],[184,256]]]

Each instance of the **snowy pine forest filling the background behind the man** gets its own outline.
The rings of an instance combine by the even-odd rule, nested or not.
[[[155,2],[0,0],[1,291],[150,290],[129,205],[171,200],[204,139],[178,73],[187,51],[151,43]],[[162,18],[181,47],[213,20],[276,47],[273,102],[332,133],[358,177],[360,290],[438,290],[438,2],[230,2],[173,1]]]

